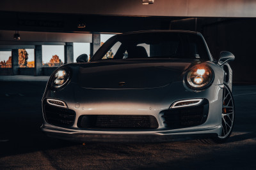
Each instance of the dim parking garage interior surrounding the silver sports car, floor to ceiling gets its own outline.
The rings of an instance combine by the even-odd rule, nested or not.
[[[1,1],[0,168],[255,169],[255,8],[250,0]],[[230,66],[237,115],[228,142],[87,144],[42,134],[45,85],[58,66],[76,62],[76,46],[83,44],[91,57],[104,35],[145,30],[201,32],[214,60],[221,51],[235,55]],[[63,59],[45,62],[47,46],[61,46]],[[20,64],[20,53],[29,50],[33,65]],[[2,53],[10,55],[8,63]]]

